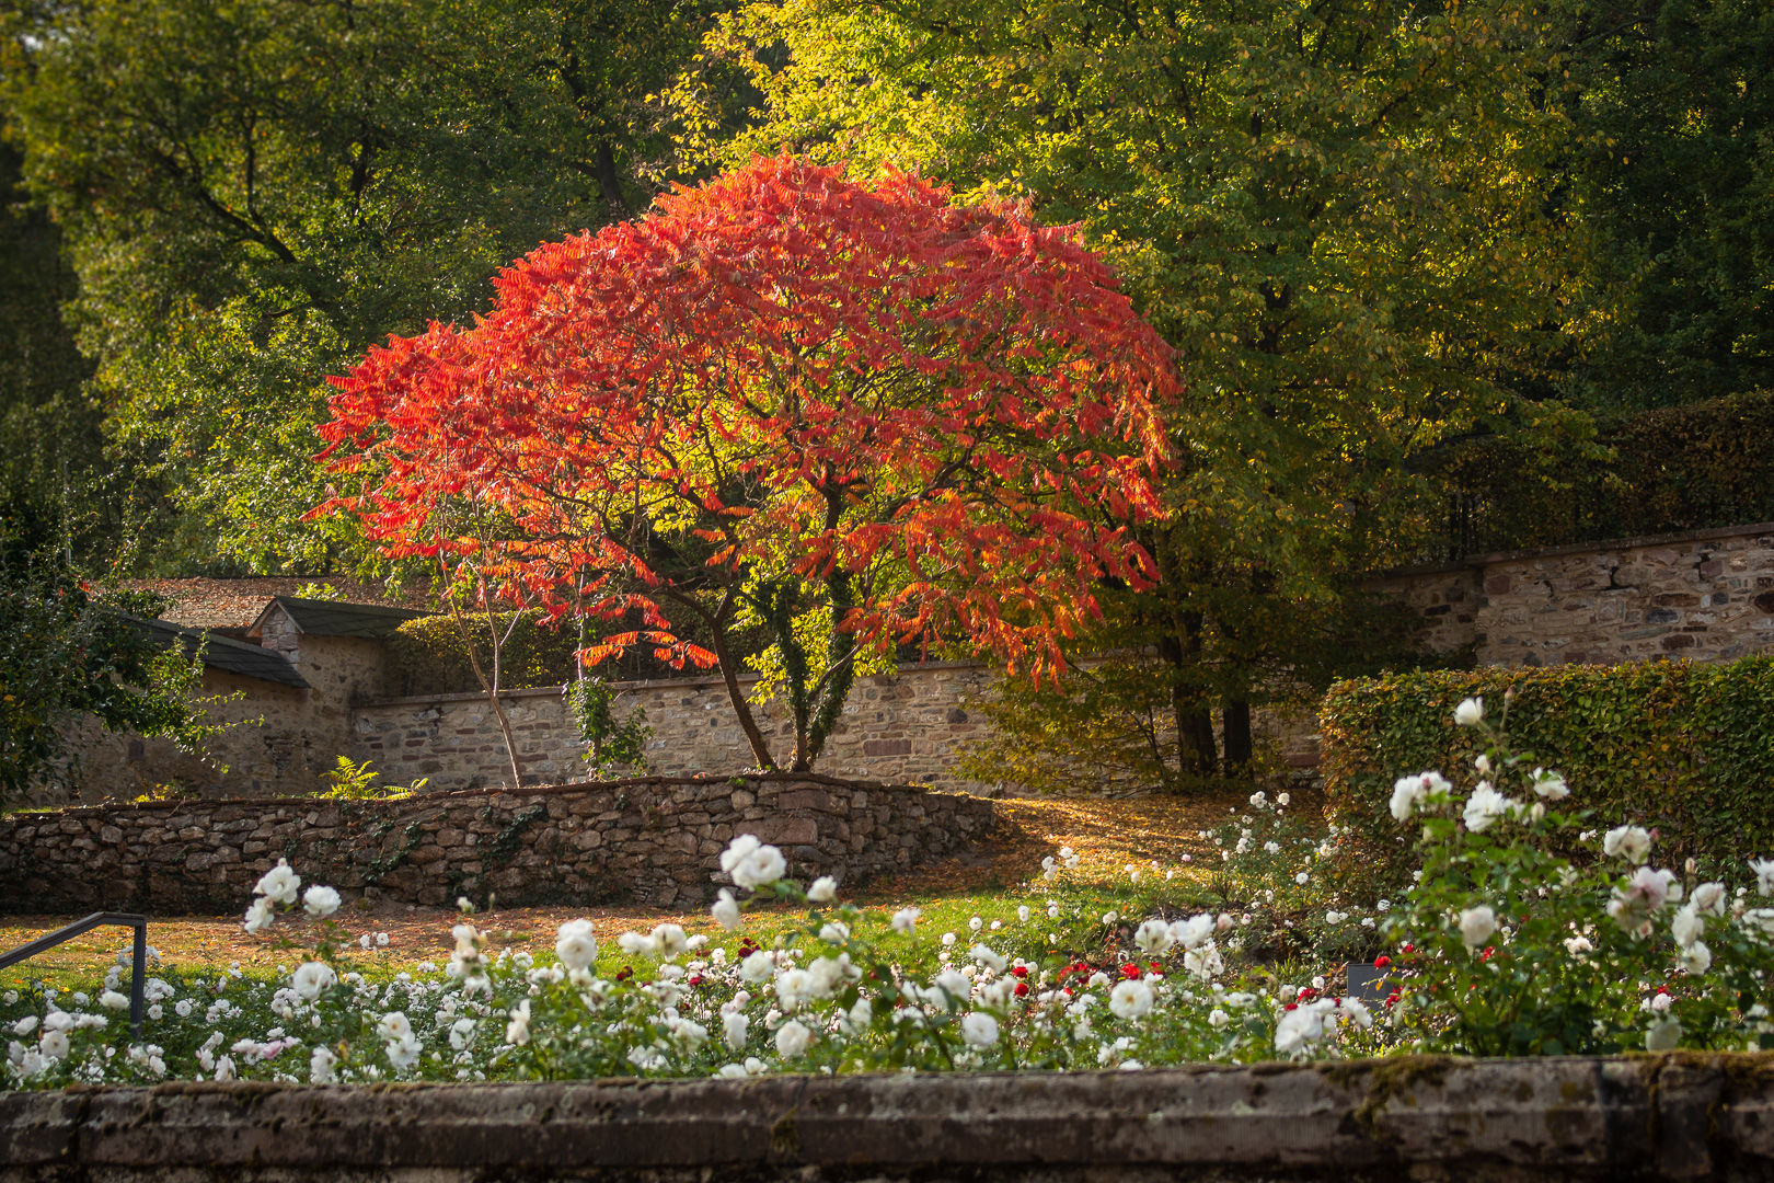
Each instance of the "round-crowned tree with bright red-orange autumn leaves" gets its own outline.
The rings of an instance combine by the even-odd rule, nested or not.
[[[490,594],[626,621],[589,662],[718,665],[775,768],[734,653],[763,630],[804,770],[860,658],[967,639],[1057,674],[1093,587],[1150,580],[1125,525],[1158,513],[1174,381],[1070,229],[754,160],[335,380],[323,458],[353,491],[328,507],[497,571]],[[465,500],[498,529],[456,529]]]

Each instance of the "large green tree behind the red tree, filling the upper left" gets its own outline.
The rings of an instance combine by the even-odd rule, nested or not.
[[[11,5],[0,101],[94,392],[179,514],[147,557],[334,562],[351,536],[300,521],[325,374],[644,206],[713,2]]]

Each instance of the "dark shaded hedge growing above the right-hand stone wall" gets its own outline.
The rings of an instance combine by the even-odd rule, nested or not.
[[[1593,442],[1566,447],[1471,440],[1433,472],[1462,553],[1769,521],[1774,390],[1604,420]]]

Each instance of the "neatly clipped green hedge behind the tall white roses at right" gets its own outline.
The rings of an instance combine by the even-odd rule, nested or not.
[[[1414,837],[1387,811],[1393,780],[1440,770],[1469,789],[1481,736],[1453,708],[1483,695],[1495,717],[1510,688],[1511,748],[1563,772],[1568,805],[1597,827],[1655,827],[1659,866],[1774,855],[1774,656],[1421,672],[1338,683],[1320,713],[1332,816],[1380,881],[1398,880]]]

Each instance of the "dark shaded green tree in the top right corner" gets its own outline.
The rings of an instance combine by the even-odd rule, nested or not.
[[[1582,2],[1565,37],[1572,192],[1604,247],[1572,394],[1637,410],[1774,387],[1774,9]]]

